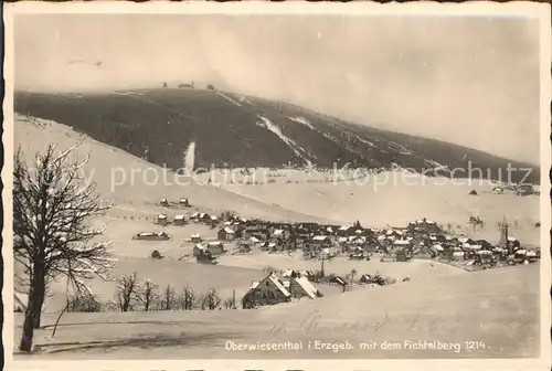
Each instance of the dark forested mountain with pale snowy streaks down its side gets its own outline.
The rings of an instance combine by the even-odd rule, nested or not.
[[[456,178],[469,169],[507,180],[513,168],[534,166],[465,147],[360,126],[301,107],[232,93],[159,88],[108,94],[15,94],[17,113],[51,119],[169,168],[182,167],[182,153],[195,142],[195,168],[332,169],[403,168]],[[479,138],[474,138],[479,140]],[[501,169],[501,170],[500,170]],[[431,171],[429,171],[431,170]],[[500,177],[500,178],[499,178]],[[521,181],[524,171],[514,171]],[[526,181],[538,183],[539,169]]]

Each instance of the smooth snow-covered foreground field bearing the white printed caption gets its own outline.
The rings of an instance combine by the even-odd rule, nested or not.
[[[538,265],[426,278],[353,290],[331,300],[257,310],[55,315],[36,333],[42,352],[17,360],[534,358],[539,349]],[[21,322],[20,318],[17,321]],[[15,337],[20,328],[15,329]],[[405,339],[461,344],[455,350],[361,349]],[[466,349],[475,339],[486,349]],[[349,341],[354,349],[307,349],[309,341]],[[226,342],[301,342],[302,350],[231,351]]]

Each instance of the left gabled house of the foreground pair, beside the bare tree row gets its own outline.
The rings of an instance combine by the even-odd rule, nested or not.
[[[253,282],[252,287],[242,298],[244,309],[263,305],[275,305],[291,300],[291,294],[284,287],[284,283],[270,273],[261,282]]]

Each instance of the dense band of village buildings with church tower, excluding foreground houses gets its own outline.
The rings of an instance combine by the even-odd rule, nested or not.
[[[179,205],[190,205],[181,199]],[[166,199],[161,204],[170,205]],[[470,221],[471,222],[471,221]],[[157,223],[170,223],[166,214],[159,214]],[[187,221],[184,215],[174,215],[174,225],[203,223],[217,229],[216,242],[202,244],[199,235],[192,235],[195,243],[194,256],[214,261],[224,253],[224,244],[235,245],[234,253],[246,254],[253,248],[269,253],[302,251],[305,258],[328,259],[344,254],[351,259],[370,259],[380,253],[382,261],[411,258],[444,258],[467,264],[492,265],[498,262],[510,264],[537,261],[538,251],[522,248],[519,241],[508,234],[508,224],[500,227],[500,242],[474,240],[450,235],[435,221],[425,218],[412,221],[404,227],[371,229],[360,222],[352,225],[329,225],[319,223],[277,223],[264,220],[247,220],[225,213],[221,216],[194,212]]]

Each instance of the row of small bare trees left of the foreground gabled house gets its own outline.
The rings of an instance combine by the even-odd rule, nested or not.
[[[113,300],[102,303],[91,292],[77,292],[67,297],[66,311],[151,311],[151,310],[214,310],[237,309],[235,297],[222,300],[215,289],[198,295],[192,288],[180,292],[171,285],[160,287],[150,279],[139,279],[136,272],[117,280]]]

